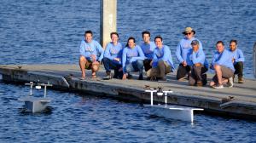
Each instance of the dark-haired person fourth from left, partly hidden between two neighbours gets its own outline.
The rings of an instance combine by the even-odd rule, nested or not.
[[[141,48],[143,49],[143,54],[145,55],[145,60],[143,60],[143,66],[145,68],[145,72],[147,73],[147,76],[150,76],[151,68],[152,68],[152,60],[153,60],[153,54],[155,49],[154,42],[150,41],[150,32],[149,31],[143,31],[143,43],[141,44]]]

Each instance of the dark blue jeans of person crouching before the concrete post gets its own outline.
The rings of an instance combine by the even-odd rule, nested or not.
[[[108,58],[103,58],[102,62],[104,64],[106,72],[111,72],[111,69],[114,71],[114,76],[113,77],[123,77],[123,72],[119,72],[119,68],[122,66],[116,62],[113,62],[113,60],[110,60]]]

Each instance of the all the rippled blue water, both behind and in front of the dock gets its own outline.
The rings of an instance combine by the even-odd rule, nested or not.
[[[96,1],[17,1],[0,4],[0,64],[75,64],[85,30],[99,40]],[[214,44],[236,38],[246,56],[245,76],[253,77],[256,1],[118,1],[120,41],[142,41],[141,32],[160,34],[174,56],[185,26],[195,28],[211,60]],[[176,58],[173,58],[177,64]],[[101,96],[49,91],[44,114],[21,112],[17,101],[27,87],[0,83],[0,142],[253,142],[256,124],[197,114],[195,123],[152,117],[136,103]]]

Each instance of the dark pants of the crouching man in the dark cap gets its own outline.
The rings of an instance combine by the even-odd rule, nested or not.
[[[192,66],[191,74],[189,75],[189,85],[195,85],[197,82],[207,84],[207,72],[206,66]]]

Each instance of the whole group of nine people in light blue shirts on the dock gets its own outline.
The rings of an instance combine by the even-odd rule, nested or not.
[[[206,85],[207,71],[211,68],[216,74],[209,85],[214,89],[224,88],[225,83],[233,87],[235,74],[238,75],[238,83],[244,83],[244,56],[241,49],[237,49],[236,40],[230,41],[230,49],[224,49],[224,43],[218,41],[209,66],[202,43],[195,38],[195,31],[186,27],[183,35],[176,49],[179,62],[177,80],[188,78],[191,86]],[[85,69],[91,70],[92,78],[96,78],[102,62],[106,70],[106,77],[103,79],[113,77],[125,80],[132,77],[131,72],[139,72],[138,80],[143,80],[144,69],[148,80],[166,81],[166,74],[175,70],[171,49],[163,43],[160,36],[154,37],[154,42],[150,41],[149,31],[143,31],[142,36],[141,45],[136,44],[134,37],[129,37],[123,46],[119,43],[119,34],[112,32],[111,42],[103,49],[100,43],[93,40],[92,31],[85,31],[80,44],[81,79],[85,79]],[[113,76],[111,70],[114,71]]]

